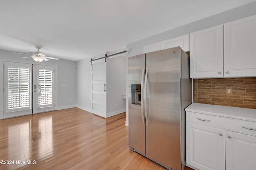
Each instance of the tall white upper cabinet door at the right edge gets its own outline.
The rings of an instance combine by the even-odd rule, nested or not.
[[[256,15],[224,24],[224,77],[256,76]]]

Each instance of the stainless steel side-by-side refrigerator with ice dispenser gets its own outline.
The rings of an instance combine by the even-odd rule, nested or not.
[[[128,59],[129,145],[168,169],[185,167],[189,57],[174,47]]]

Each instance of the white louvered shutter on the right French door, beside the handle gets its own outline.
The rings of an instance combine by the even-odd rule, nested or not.
[[[53,76],[51,69],[38,69],[38,85],[41,95],[38,97],[38,106],[52,105],[53,103]]]

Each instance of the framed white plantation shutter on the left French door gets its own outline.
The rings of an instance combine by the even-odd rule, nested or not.
[[[31,109],[30,65],[5,63],[6,113]]]

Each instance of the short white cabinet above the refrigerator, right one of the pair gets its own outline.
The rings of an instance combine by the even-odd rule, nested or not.
[[[178,47],[180,46],[183,51],[189,51],[189,34],[186,34],[184,36],[179,36],[176,38],[171,38],[169,40],[165,40],[163,42],[163,48],[172,48],[172,47]]]

